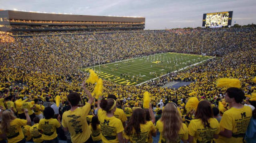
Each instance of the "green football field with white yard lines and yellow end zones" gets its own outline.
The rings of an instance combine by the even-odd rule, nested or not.
[[[214,57],[167,52],[106,63],[80,70],[88,72],[89,69],[93,69],[100,78],[118,84],[139,85],[163,76],[168,72],[181,71],[212,58]]]

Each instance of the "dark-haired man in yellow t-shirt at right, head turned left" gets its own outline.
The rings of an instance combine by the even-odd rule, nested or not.
[[[245,93],[241,89],[228,88],[225,95],[230,109],[223,113],[220,121],[221,131],[215,142],[242,143],[252,116],[252,109],[241,104],[245,98]]]

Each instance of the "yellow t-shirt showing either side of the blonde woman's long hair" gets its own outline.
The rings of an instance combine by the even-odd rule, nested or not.
[[[155,128],[158,129],[158,131],[160,132],[158,143],[166,143],[166,140],[163,137],[164,123],[161,120],[158,120],[156,122]],[[182,127],[179,130],[178,134],[179,134],[179,139],[177,139],[176,142],[172,142],[172,143],[179,143],[181,139],[188,140],[188,129],[186,124],[182,123]]]

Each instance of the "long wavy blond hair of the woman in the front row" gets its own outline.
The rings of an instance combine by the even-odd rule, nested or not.
[[[168,103],[164,107],[160,121],[164,123],[163,137],[166,142],[174,142],[179,138],[179,130],[182,127],[182,117],[174,103]]]

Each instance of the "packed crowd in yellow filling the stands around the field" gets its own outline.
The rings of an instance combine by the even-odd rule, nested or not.
[[[173,121],[168,121],[168,117],[172,116],[169,115],[168,110],[175,110],[173,112],[180,112],[182,116],[176,116],[176,118],[171,119],[180,123],[177,124],[179,126],[175,126],[172,128],[175,129],[176,132],[173,132],[171,136],[179,137],[179,139],[181,139],[183,142],[186,142],[186,140],[196,141],[195,139],[198,139],[198,133],[196,133],[195,130],[192,133],[192,131],[190,130],[190,126],[191,128],[193,128],[192,126],[196,126],[199,123],[194,121],[194,123],[191,122],[193,124],[188,123],[188,121],[190,120],[187,119],[193,114],[191,114],[192,112],[187,112],[184,108],[188,100],[189,93],[196,92],[196,96],[199,99],[209,100],[209,103],[202,102],[202,104],[204,103],[204,105],[202,106],[208,106],[209,104],[210,106],[218,107],[218,101],[223,100],[223,95],[226,93],[225,88],[216,88],[215,85],[216,80],[222,77],[240,79],[242,83],[242,90],[245,92],[246,95],[254,92],[255,83],[252,82],[252,78],[255,75],[256,71],[256,57],[252,53],[256,52],[256,40],[254,38],[255,35],[256,33],[254,28],[238,28],[218,30],[195,29],[185,31],[184,33],[180,31],[138,31],[132,33],[120,32],[87,35],[49,35],[16,37],[14,40],[10,37],[5,38],[11,40],[5,40],[0,43],[0,53],[2,55],[0,57],[0,106],[2,106],[2,111],[6,108],[11,109],[11,111],[7,111],[9,111],[8,116],[10,116],[12,120],[15,119],[15,116],[9,114],[15,113],[19,118],[21,116],[21,118],[27,119],[26,123],[25,121],[20,121],[23,123],[20,123],[19,129],[21,129],[21,126],[23,126],[25,129],[26,124],[31,125],[30,122],[32,122],[34,125],[40,125],[40,122],[47,122],[44,120],[49,120],[52,117],[56,118],[56,120],[52,120],[52,124],[56,125],[55,128],[61,127],[60,125],[62,125],[62,129],[64,129],[65,131],[70,131],[71,127],[74,128],[73,133],[70,132],[71,136],[69,136],[71,137],[70,140],[72,140],[72,142],[79,142],[75,138],[80,137],[77,137],[74,134],[77,134],[77,132],[84,133],[85,130],[83,130],[83,128],[86,128],[86,130],[91,128],[91,132],[93,135],[99,133],[99,130],[97,132],[94,132],[94,130],[99,129],[100,127],[102,130],[101,124],[102,122],[104,123],[105,120],[111,120],[111,122],[112,120],[113,122],[119,122],[115,118],[113,118],[113,115],[115,115],[115,117],[119,117],[121,124],[116,127],[118,128],[118,132],[115,132],[111,135],[107,134],[106,137],[108,138],[101,138],[103,142],[108,142],[107,140],[110,140],[111,138],[114,138],[113,140],[115,141],[122,141],[123,138],[123,141],[137,142],[137,136],[140,132],[138,126],[133,126],[136,125],[134,124],[134,122],[145,125],[141,128],[143,128],[143,130],[147,133],[148,130],[150,130],[152,136],[154,136],[154,133],[156,132],[156,130],[158,130],[161,133],[161,140],[162,138],[164,138],[164,140],[167,139],[169,141],[173,141],[173,138],[168,138],[170,134],[166,133],[168,129],[165,128],[166,126],[164,125],[169,125],[169,127],[174,126],[171,125],[171,122]],[[161,77],[158,80],[150,81],[148,84],[145,85],[126,86],[104,80],[103,97],[108,97],[109,94],[111,94],[117,97],[116,100],[107,99],[102,102],[100,100],[102,98],[101,97],[98,100],[94,100],[91,102],[89,98],[90,94],[88,93],[88,91],[93,90],[93,85],[88,84],[86,86],[88,90],[82,90],[80,88],[80,85],[82,81],[85,80],[85,78],[87,77],[87,74],[78,71],[78,69],[82,67],[88,67],[92,65],[93,62],[98,63],[98,61],[93,61],[94,59],[99,58],[101,63],[108,63],[116,60],[127,59],[141,55],[151,55],[167,51],[182,53],[192,52],[196,54],[201,54],[202,47],[204,47],[203,53],[222,56],[211,59],[204,64],[192,67],[186,71],[182,71],[179,73],[170,73],[167,76]],[[178,89],[160,87],[172,80],[193,81],[193,83],[182,86]],[[158,116],[158,119],[160,118],[160,112],[162,112],[162,118],[159,119],[159,122],[154,121],[155,117],[153,117],[154,115],[152,115],[151,109],[149,109],[149,112],[142,111],[140,109],[136,110],[136,108],[142,107],[143,93],[145,91],[149,91],[152,94],[151,104],[152,107],[155,108],[155,114],[156,116]],[[43,102],[55,102],[55,97],[61,96],[61,102],[64,105],[68,105],[67,102],[70,102],[70,104],[72,102],[75,102],[73,101],[74,99],[69,99],[69,97],[72,97],[70,96],[70,92],[76,92],[79,95],[79,99],[81,98],[80,103],[85,106],[83,108],[84,110],[86,110],[85,112],[83,112],[83,117],[85,114],[90,114],[89,117],[92,118],[93,115],[98,114],[98,120],[95,118],[93,118],[93,120],[90,119],[91,122],[94,123],[92,127],[84,127],[86,126],[85,124],[81,124],[83,126],[82,128],[78,127],[78,124],[75,124],[73,126],[70,125],[70,122],[77,122],[77,120],[75,119],[80,118],[79,116],[82,117],[79,112],[81,112],[83,108],[81,108],[81,111],[75,111],[75,116],[71,115],[71,113],[70,115],[67,115],[70,117],[67,117],[66,119],[70,118],[70,122],[64,123],[65,119],[63,120],[63,116],[65,114],[60,117],[54,117],[55,112],[52,113],[52,110],[50,108],[45,108],[43,110],[42,105],[40,106],[36,102],[29,102],[34,100],[39,100]],[[77,94],[74,94],[73,96],[77,96]],[[17,108],[17,104],[19,103],[16,103],[15,101],[17,101],[18,99],[28,101],[27,103],[25,102],[26,105],[23,105],[25,103],[22,103],[22,105],[25,106],[26,109],[29,108],[28,111],[22,110],[20,106]],[[164,103],[164,105],[168,108],[160,110],[158,108],[159,101]],[[180,111],[176,111],[177,108],[173,108],[174,106],[168,104],[169,102],[176,103],[175,107],[178,107]],[[226,102],[231,104],[231,101],[226,100]],[[72,112],[76,110],[77,104],[78,103],[75,103],[73,105],[71,104],[71,110],[69,111]],[[88,104],[90,104],[90,106]],[[97,108],[95,107],[95,105],[97,106]],[[114,107],[112,108],[113,105]],[[127,111],[125,112],[127,116],[121,116],[121,114],[117,116],[116,114],[113,114],[116,109],[119,110],[115,106],[121,108],[121,110],[124,108],[124,111]],[[91,109],[94,109],[96,112],[88,110],[89,107]],[[134,109],[133,113],[131,113],[132,110],[130,110],[129,107]],[[110,108],[112,109],[110,110]],[[114,108],[116,109],[114,110]],[[42,111],[38,112],[38,110]],[[119,110],[119,113],[124,112],[121,110]],[[45,113],[45,111],[47,112]],[[143,118],[139,120],[136,116],[144,114],[144,112],[145,120]],[[195,116],[193,115],[193,118],[196,117],[196,119],[198,120],[200,120],[201,118],[209,119],[213,117],[211,114],[209,114],[207,117],[202,117],[201,113],[198,113],[197,115],[197,111],[194,112]],[[52,114],[48,115],[50,113]],[[64,112],[61,111],[59,113],[61,114]],[[146,113],[148,113],[147,119]],[[45,117],[44,120],[42,119],[41,114]],[[250,114],[249,111],[248,114]],[[164,115],[166,115],[166,117]],[[186,116],[187,118],[185,119]],[[141,116],[139,116],[139,118],[140,117]],[[130,118],[132,120],[129,120],[128,122],[126,121],[127,118]],[[181,120],[181,118],[183,120]],[[183,124],[182,121],[188,126],[185,127],[185,124]],[[215,122],[215,120],[213,122]],[[81,121],[81,123],[83,122]],[[154,125],[155,123],[156,126]],[[212,127],[211,123],[208,123],[207,121],[204,123],[204,128],[209,126]],[[212,124],[217,125],[217,123]],[[127,128],[124,128],[125,125],[128,125]],[[180,130],[181,126],[184,126],[184,128],[182,128],[182,131]],[[38,126],[38,129],[39,127],[40,126]],[[224,128],[231,130],[226,126]],[[107,128],[107,126],[103,126],[103,129],[108,129],[109,131],[109,128]],[[120,133],[119,131],[124,131],[125,134],[122,134],[121,137],[121,135],[118,134]],[[135,133],[134,131],[137,134],[133,134]],[[182,133],[177,133],[178,131]],[[50,130],[49,133],[53,133],[51,135],[52,137],[44,140],[56,140],[57,134],[55,134],[55,132],[56,129]],[[88,134],[89,132],[86,133]],[[186,135],[188,133],[192,137],[188,138],[188,136]],[[222,132],[220,132],[220,130],[214,130],[214,133],[212,135],[214,135],[214,138],[217,138],[216,136],[219,133],[220,135],[227,137],[225,136],[227,135],[225,134],[226,132],[224,133],[224,135]],[[68,133],[65,132],[65,135],[66,134]],[[103,134],[104,133],[102,133],[102,135]],[[144,137],[148,136],[149,135],[146,134]],[[88,140],[88,138],[90,138],[88,136],[83,137],[84,142]],[[211,138],[213,138],[213,136],[211,136]],[[92,136],[92,139],[95,138]],[[148,140],[146,140],[146,142],[147,141]],[[202,141],[200,137],[199,141]]]

